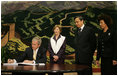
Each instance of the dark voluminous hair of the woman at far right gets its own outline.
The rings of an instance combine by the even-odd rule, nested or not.
[[[98,21],[104,20],[104,22],[107,24],[109,28],[111,28],[111,25],[113,24],[112,18],[109,15],[106,14],[100,14],[98,16]]]

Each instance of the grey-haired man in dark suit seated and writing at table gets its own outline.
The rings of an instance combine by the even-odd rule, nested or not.
[[[42,40],[37,36],[32,39],[32,47],[26,48],[17,59],[8,59],[8,63],[46,63],[46,49],[40,47]]]

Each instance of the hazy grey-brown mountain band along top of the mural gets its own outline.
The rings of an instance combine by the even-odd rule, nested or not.
[[[1,2],[1,13],[8,14],[13,13],[16,10],[26,10],[35,5],[42,5],[53,10],[64,10],[64,9],[82,9],[87,6],[94,8],[107,8],[107,9],[117,9],[116,1],[2,1]],[[37,9],[38,11],[40,9]],[[32,11],[32,9],[29,11]]]

